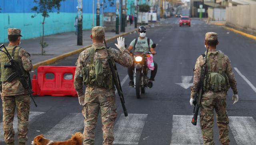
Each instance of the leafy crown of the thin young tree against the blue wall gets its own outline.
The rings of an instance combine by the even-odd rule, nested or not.
[[[42,13],[44,18],[49,17],[49,13],[53,12],[54,9],[60,10],[60,2],[65,0],[34,0],[34,3],[38,4],[38,6],[34,6],[31,10],[36,12],[32,18],[34,18],[37,14]]]

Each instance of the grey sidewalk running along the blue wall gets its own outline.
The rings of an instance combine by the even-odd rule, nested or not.
[[[117,35],[124,35],[125,33],[134,30],[135,28],[133,24],[131,26],[127,25],[127,27],[125,28],[126,32],[120,32],[119,34],[116,34],[115,32],[106,32],[106,40]],[[20,46],[26,49],[26,51],[31,54],[32,63],[36,64],[91,45],[92,40],[90,39],[90,34],[90,30],[83,31],[83,45],[80,46],[76,45],[77,35],[74,31],[46,36],[44,38],[45,42],[48,44],[48,46],[44,48],[46,55],[41,55],[41,46],[39,44],[41,41],[41,37],[21,40]],[[8,45],[8,43],[6,45]]]

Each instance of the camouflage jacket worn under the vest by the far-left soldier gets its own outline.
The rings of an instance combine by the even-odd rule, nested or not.
[[[8,47],[14,47],[14,46],[8,45]],[[19,57],[20,57],[20,60],[22,61],[22,66],[24,70],[31,71],[33,68],[33,65],[31,63],[30,55],[26,52],[25,49],[20,48]],[[28,90],[25,90],[20,80],[18,79],[14,79],[12,80],[12,82],[2,82],[1,87],[2,87],[2,94],[1,94],[2,96],[28,94]]]

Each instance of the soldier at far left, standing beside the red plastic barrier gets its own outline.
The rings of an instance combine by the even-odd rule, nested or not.
[[[30,55],[25,49],[19,47],[20,44],[20,29],[8,29],[9,45],[6,47],[10,55],[14,55],[14,61],[20,64],[24,72],[32,70]],[[4,49],[2,49],[4,50]],[[14,50],[14,51],[13,51]],[[15,108],[17,108],[18,116],[18,141],[19,145],[25,145],[28,140],[28,115],[30,110],[30,96],[20,80],[15,78],[11,82],[6,79],[12,74],[11,68],[4,68],[5,64],[10,64],[8,57],[3,52],[0,52],[0,76],[1,76],[1,99],[3,106],[3,128],[4,141],[7,145],[14,145],[14,129],[13,120]]]

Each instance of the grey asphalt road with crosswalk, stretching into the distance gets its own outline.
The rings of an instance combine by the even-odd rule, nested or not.
[[[187,12],[183,11],[182,14]],[[193,126],[190,123],[190,87],[184,88],[176,83],[183,83],[183,86],[190,86],[192,83],[194,64],[197,57],[205,51],[204,35],[209,31],[218,33],[220,43],[217,49],[228,55],[232,61],[238,82],[238,103],[232,104],[231,90],[227,96],[230,145],[256,144],[256,41],[198,19],[192,20],[191,27],[179,27],[178,18],[170,18],[160,26],[147,29],[146,35],[158,44],[157,55],[154,56],[154,61],[158,63],[158,73],[153,88],[146,89],[141,99],[136,98],[134,88],[128,87],[127,69],[118,66],[120,79],[124,82],[123,91],[129,115],[128,118],[124,117],[119,98],[116,97],[117,145],[202,144],[199,125]],[[126,35],[126,44],[136,37],[136,33]],[[108,45],[115,47],[114,43],[116,41],[111,41]],[[74,66],[77,57],[78,54],[52,65]],[[77,98],[44,96],[36,97],[35,100],[38,108],[31,103],[30,111],[34,116],[31,117],[29,125],[29,141],[39,134],[62,140],[76,131],[83,131],[82,106],[78,104]],[[214,141],[216,145],[220,145],[216,119],[214,125]],[[0,139],[3,140],[2,136]],[[101,144],[102,131],[98,120],[96,145]]]

